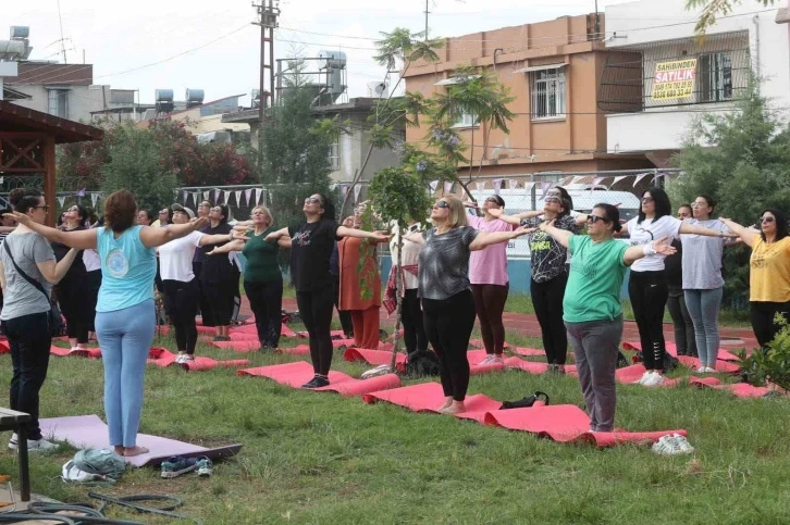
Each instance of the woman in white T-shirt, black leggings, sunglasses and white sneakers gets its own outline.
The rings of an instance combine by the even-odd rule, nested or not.
[[[650,188],[644,192],[639,215],[626,223],[622,229],[630,235],[632,246],[647,246],[664,237],[677,239],[680,234],[720,238],[735,236],[675,218],[671,216],[669,197],[661,188]],[[658,254],[634,262],[628,282],[628,296],[639,327],[646,370],[637,383],[649,387],[664,383],[664,309],[669,297],[664,259],[664,255]]]

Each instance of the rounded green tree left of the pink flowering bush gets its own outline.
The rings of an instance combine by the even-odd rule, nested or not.
[[[119,125],[106,143],[108,161],[101,167],[101,189],[107,193],[127,189],[147,210],[170,205],[177,180],[161,162],[160,149],[161,143],[148,129]]]

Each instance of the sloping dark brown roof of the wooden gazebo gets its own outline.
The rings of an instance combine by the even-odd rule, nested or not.
[[[101,140],[104,136],[98,127],[0,100],[0,133],[14,132],[51,134],[55,143]]]

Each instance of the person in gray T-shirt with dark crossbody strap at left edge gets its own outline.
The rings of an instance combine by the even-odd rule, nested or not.
[[[39,191],[15,189],[11,192],[10,200],[15,212],[24,213],[32,221],[44,224],[49,207]],[[38,393],[47,377],[49,349],[52,345],[49,326],[52,285],[63,278],[76,254],[76,250],[70,250],[55,263],[54,253],[47,239],[24,224],[20,224],[0,246],[0,285],[5,296],[0,321],[9,339],[13,364],[11,410],[26,412],[32,416],[27,424],[27,448],[30,452],[58,447],[41,436],[38,425]],[[39,286],[30,284],[17,268]],[[14,434],[9,441],[9,448],[17,447],[18,436]]]

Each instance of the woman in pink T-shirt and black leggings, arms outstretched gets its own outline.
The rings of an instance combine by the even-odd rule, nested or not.
[[[492,211],[502,213],[505,210],[505,200],[498,195],[485,199],[482,210],[484,212],[482,217],[467,215],[469,226],[479,232],[490,233],[514,230],[513,225],[499,221],[492,214]],[[507,243],[492,245],[484,250],[473,252],[469,258],[469,282],[486,353],[485,360],[480,364],[502,363],[502,352],[505,347],[502,313],[505,311],[510,289],[507,276]]]

